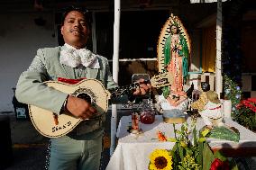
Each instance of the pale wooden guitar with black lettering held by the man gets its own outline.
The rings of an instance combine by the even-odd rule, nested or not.
[[[159,88],[171,85],[172,80],[172,75],[167,72],[151,77],[150,82],[152,87]],[[96,79],[84,79],[76,85],[69,85],[59,81],[47,81],[45,84],[66,94],[83,98],[91,103],[96,108],[98,115],[94,118],[90,118],[90,120],[97,119],[107,112],[108,100],[110,97],[133,94],[133,90],[139,86],[139,83],[134,83],[133,85],[128,85],[126,87],[117,87],[106,90],[105,86]],[[83,121],[74,117],[69,112],[62,112],[58,115],[32,104],[29,104],[28,106],[33,126],[41,133],[41,135],[48,138],[64,136],[76,128],[79,122]]]

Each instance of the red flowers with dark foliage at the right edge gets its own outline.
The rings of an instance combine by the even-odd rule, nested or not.
[[[242,100],[236,109],[238,114],[235,115],[235,121],[249,130],[256,130],[256,99]]]

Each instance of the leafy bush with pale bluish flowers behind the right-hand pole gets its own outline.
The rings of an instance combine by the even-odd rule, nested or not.
[[[231,100],[232,117],[234,118],[239,112],[236,110],[236,105],[240,103],[242,98],[242,90],[229,76],[224,75],[224,99]]]

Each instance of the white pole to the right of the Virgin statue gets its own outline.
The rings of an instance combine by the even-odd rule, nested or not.
[[[216,17],[215,91],[219,97],[222,92],[222,22],[222,0],[218,0]]]

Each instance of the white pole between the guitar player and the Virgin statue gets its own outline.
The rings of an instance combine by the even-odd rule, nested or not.
[[[114,0],[114,51],[113,51],[113,78],[118,83],[119,72],[119,31],[120,31],[120,0]],[[116,134],[117,106],[112,104],[111,117],[111,146],[110,156],[114,153]]]

